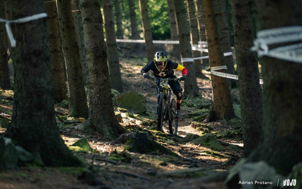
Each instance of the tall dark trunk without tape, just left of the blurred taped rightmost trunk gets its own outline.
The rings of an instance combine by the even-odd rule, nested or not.
[[[247,157],[260,141],[262,130],[262,96],[259,84],[258,58],[250,51],[255,39],[252,5],[249,0],[231,0],[237,69],[240,87],[240,109],[244,149]]]

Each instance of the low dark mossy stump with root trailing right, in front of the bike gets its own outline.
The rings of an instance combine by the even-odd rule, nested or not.
[[[124,149],[129,152],[147,154],[147,153],[160,153],[178,156],[168,148],[158,144],[150,138],[146,132],[135,132],[135,133],[125,133],[120,135],[113,144],[124,144]]]

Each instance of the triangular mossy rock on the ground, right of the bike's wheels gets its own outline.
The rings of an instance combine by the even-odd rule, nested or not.
[[[221,152],[224,151],[223,146],[220,144],[220,142],[217,140],[215,135],[213,133],[209,133],[206,135],[203,135],[199,138],[196,138],[190,142],[191,144],[196,145],[203,145],[204,147],[213,148],[215,150],[219,150]]]

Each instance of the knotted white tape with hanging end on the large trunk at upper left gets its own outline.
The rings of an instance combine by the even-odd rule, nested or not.
[[[39,13],[36,15],[26,16],[23,18],[15,19],[15,20],[5,20],[5,19],[0,18],[0,22],[5,22],[5,28],[6,28],[6,32],[7,32],[11,47],[16,47],[16,40],[14,38],[13,32],[11,31],[11,23],[24,23],[24,22],[37,20],[40,18],[45,18],[45,17],[47,17],[46,13]]]

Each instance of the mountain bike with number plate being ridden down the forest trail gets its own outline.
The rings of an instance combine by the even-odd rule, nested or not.
[[[150,80],[159,80],[159,90],[157,96],[156,114],[157,119],[157,130],[162,132],[163,121],[168,122],[169,133],[177,135],[178,119],[176,115],[176,100],[171,99],[172,89],[168,87],[169,81],[177,80],[178,78],[158,78],[151,76]]]

